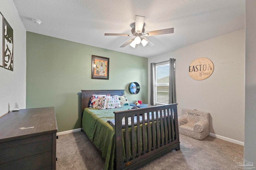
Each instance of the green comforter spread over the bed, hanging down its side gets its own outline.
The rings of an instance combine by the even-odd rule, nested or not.
[[[114,119],[114,111],[127,110],[132,106],[123,106],[116,109],[85,108],[82,124],[83,129],[94,145],[101,150],[105,159],[104,170],[113,170],[115,153],[115,128],[107,123]]]

